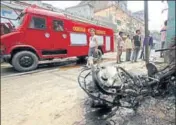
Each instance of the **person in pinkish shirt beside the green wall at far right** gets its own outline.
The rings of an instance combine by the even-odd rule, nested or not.
[[[166,28],[167,28],[167,20],[164,22],[164,26],[161,29],[161,49],[164,48],[165,42],[166,42]],[[160,57],[163,57],[163,52],[161,51]]]

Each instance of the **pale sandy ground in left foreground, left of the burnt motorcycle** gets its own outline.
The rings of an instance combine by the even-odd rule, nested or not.
[[[2,125],[72,125],[82,119],[78,69],[1,80]],[[66,74],[66,75],[65,75]]]

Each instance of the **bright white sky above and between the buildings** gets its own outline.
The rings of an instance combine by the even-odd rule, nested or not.
[[[52,4],[55,7],[65,9],[70,6],[77,5],[80,1],[42,1],[45,3]],[[162,15],[161,11],[167,7],[166,4],[161,1],[149,1],[149,29],[160,30],[163,25],[163,21],[167,18],[167,14]],[[143,1],[128,1],[128,9],[132,12],[143,10]]]

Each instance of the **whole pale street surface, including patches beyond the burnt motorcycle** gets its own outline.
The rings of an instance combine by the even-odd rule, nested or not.
[[[115,54],[106,54],[102,65],[116,65]],[[146,73],[143,61],[124,62],[121,66]],[[78,85],[77,76],[82,65],[72,63],[16,76],[13,69],[9,68],[14,73],[6,68],[8,66],[2,67],[6,73],[2,72],[5,75],[1,78],[2,125],[104,124],[105,121],[93,119],[96,116],[90,114],[87,95]]]

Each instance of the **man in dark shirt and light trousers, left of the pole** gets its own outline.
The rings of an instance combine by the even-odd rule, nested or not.
[[[133,56],[132,56],[132,62],[137,62],[138,54],[141,49],[141,37],[140,37],[140,30],[136,30],[136,35],[133,37]]]

